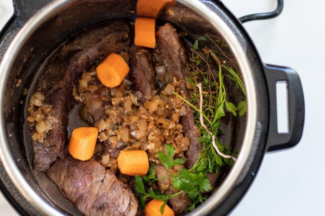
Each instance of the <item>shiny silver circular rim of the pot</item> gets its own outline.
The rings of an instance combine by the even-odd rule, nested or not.
[[[208,8],[204,3],[198,0],[176,0],[178,3],[190,8],[191,10],[199,13],[205,18],[221,35],[225,42],[230,46],[234,56],[237,59],[238,66],[241,70],[241,74],[246,87],[246,101],[247,101],[247,115],[246,115],[246,132],[243,139],[243,145],[239,152],[237,162],[234,164],[224,181],[219,188],[199,207],[189,212],[188,215],[202,215],[207,214],[213,210],[220,202],[230,193],[235,187],[245,164],[249,160],[251,154],[252,143],[255,136],[256,123],[257,123],[257,95],[255,89],[255,83],[252,77],[252,68],[250,66],[249,59],[246,55],[245,49],[242,47],[235,33],[231,29],[231,26],[226,24],[216,13]],[[24,26],[19,30],[14,40],[10,44],[6,51],[3,60],[0,64],[0,95],[1,106],[0,113],[0,158],[3,163],[8,176],[11,181],[23,195],[23,197],[40,212],[47,215],[60,215],[57,209],[42,199],[27,183],[23,174],[16,165],[15,159],[9,149],[8,140],[5,134],[6,126],[4,120],[4,92],[6,88],[6,82],[10,71],[15,63],[15,59],[18,56],[20,49],[24,43],[31,36],[33,32],[40,27],[43,22],[55,15],[60,9],[69,6],[74,0],[55,0],[38,11],[32,18],[30,18]]]

